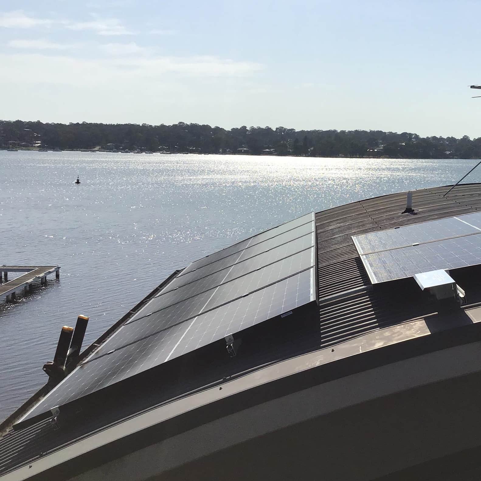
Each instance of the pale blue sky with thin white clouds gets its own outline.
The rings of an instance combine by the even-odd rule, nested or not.
[[[481,1],[2,0],[0,119],[479,129]]]

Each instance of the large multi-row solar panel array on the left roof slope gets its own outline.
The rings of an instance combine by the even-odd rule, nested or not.
[[[24,420],[313,302],[314,251],[310,213],[193,262]]]

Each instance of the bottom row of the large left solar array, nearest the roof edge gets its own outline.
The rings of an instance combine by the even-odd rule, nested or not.
[[[127,379],[315,300],[314,268],[77,367],[26,416]],[[187,326],[186,326],[187,324]]]

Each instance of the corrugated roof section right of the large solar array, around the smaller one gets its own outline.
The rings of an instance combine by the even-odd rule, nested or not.
[[[412,279],[371,286],[351,236],[481,210],[480,184],[459,185],[443,197],[448,189],[414,190],[416,215],[402,214],[406,192],[316,214],[322,345],[344,342],[435,310],[432,304],[425,302]]]

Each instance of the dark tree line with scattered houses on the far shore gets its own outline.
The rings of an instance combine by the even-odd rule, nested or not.
[[[0,148],[251,153],[319,157],[481,158],[481,137],[420,137],[382,130],[295,130],[209,125],[0,121]]]

